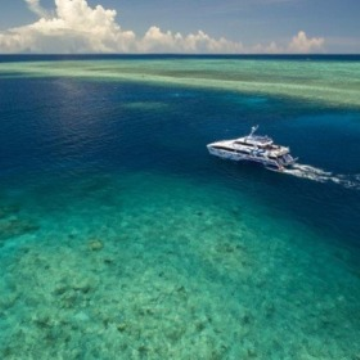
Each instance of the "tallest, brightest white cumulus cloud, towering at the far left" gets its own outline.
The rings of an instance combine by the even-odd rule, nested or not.
[[[25,1],[36,8],[39,5],[37,0]],[[100,5],[91,8],[86,0],[55,0],[55,6],[53,17],[40,16],[33,24],[0,33],[0,51],[101,53],[132,50],[135,34],[120,28],[115,21],[115,10],[105,10]]]

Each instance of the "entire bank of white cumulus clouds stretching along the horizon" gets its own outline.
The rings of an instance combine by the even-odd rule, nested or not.
[[[24,0],[39,16],[33,24],[0,32],[2,53],[276,53],[275,42],[246,48],[241,42],[214,39],[205,32],[183,35],[157,26],[138,37],[116,22],[116,11],[87,0],[55,0],[55,11],[44,9],[40,0]],[[308,39],[301,31],[287,47],[290,52],[309,52],[323,46],[323,39]]]

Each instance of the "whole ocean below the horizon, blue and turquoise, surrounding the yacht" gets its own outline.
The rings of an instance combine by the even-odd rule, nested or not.
[[[1,359],[360,359],[360,56],[0,56]],[[210,156],[258,133],[299,166]]]

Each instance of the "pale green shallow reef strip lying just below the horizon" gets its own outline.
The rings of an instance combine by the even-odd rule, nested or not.
[[[297,99],[330,107],[360,107],[358,61],[244,59],[77,60],[0,63],[0,75],[135,81]]]

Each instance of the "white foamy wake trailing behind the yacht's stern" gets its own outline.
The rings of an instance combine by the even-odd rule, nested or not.
[[[283,170],[283,173],[309,179],[321,183],[335,183],[348,189],[360,190],[360,174],[341,175],[305,164],[294,164],[291,169]]]

